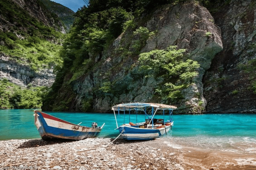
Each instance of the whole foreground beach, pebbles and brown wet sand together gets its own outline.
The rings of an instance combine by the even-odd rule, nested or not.
[[[0,141],[0,170],[254,170],[250,155],[175,147],[169,138],[126,141],[12,139]],[[237,164],[235,158],[246,160]],[[249,161],[249,162],[248,162]]]

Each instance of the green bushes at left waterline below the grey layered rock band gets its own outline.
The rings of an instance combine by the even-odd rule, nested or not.
[[[48,91],[45,86],[22,88],[7,79],[0,80],[0,109],[41,108]]]

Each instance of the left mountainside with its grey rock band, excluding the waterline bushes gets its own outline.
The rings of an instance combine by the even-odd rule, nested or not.
[[[64,27],[38,2],[1,0],[0,6],[1,78],[17,79],[25,86],[32,81],[35,72],[49,72],[52,77],[53,67],[61,64],[57,53]],[[22,68],[31,71],[22,71]],[[51,78],[51,82],[53,80]]]

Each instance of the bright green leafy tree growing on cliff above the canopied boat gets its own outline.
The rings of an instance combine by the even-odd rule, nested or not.
[[[177,102],[182,99],[181,90],[186,88],[198,74],[197,61],[184,60],[185,49],[176,50],[176,46],[170,46],[167,50],[152,50],[141,53],[139,61],[140,69],[147,76],[162,77],[164,82],[156,87],[156,92],[162,96],[162,102]]]

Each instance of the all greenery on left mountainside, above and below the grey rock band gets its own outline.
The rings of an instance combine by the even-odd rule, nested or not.
[[[28,1],[25,1],[28,3]],[[53,24],[44,25],[38,18],[33,18],[28,11],[22,9],[14,1],[0,0],[0,53],[9,55],[10,60],[28,65],[35,71],[45,68],[62,67],[62,48],[64,35],[60,33],[59,18],[49,12],[44,4],[36,0],[44,15]],[[48,93],[47,87],[27,88],[0,80],[0,109],[40,108],[42,99]]]

